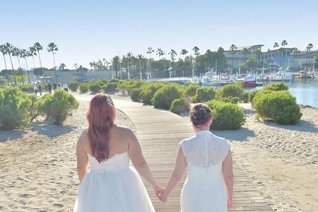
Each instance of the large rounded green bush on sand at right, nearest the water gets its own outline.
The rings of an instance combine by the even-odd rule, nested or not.
[[[296,98],[288,91],[259,92],[254,101],[257,118],[270,119],[279,124],[294,124],[302,117]]]

